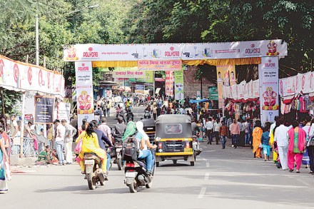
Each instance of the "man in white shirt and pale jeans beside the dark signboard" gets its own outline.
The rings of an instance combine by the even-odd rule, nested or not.
[[[66,165],[64,160],[64,136],[66,135],[66,128],[62,126],[60,121],[57,119],[54,121],[54,126],[56,126],[56,153],[59,158],[59,165]]]

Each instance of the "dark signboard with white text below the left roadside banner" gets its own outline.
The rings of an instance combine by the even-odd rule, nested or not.
[[[35,120],[34,123],[54,123],[54,97],[35,96]]]

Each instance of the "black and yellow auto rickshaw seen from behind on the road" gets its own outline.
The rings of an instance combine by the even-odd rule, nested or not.
[[[193,149],[191,118],[186,115],[161,115],[156,120],[156,166],[164,160],[186,160],[194,166],[200,153]]]

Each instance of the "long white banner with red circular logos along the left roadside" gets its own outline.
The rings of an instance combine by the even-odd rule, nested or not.
[[[61,74],[4,56],[0,56],[0,86],[64,97],[64,77]]]

